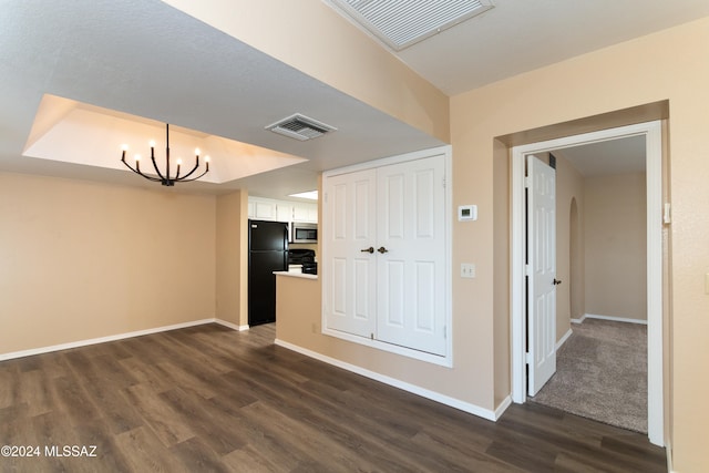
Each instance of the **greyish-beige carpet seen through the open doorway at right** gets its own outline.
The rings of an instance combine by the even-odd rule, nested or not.
[[[572,331],[530,401],[647,433],[647,327],[586,319]]]

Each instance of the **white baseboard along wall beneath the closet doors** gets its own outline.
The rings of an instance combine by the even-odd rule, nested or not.
[[[374,381],[383,382],[384,384],[389,384],[394,388],[402,389],[404,391],[411,392],[422,398],[427,398],[432,401],[440,402],[441,404],[450,405],[451,408],[459,409],[461,411],[467,412],[473,415],[477,415],[479,418],[483,418],[489,421],[497,421],[497,419],[500,419],[500,417],[505,411],[505,409],[507,409],[507,407],[510,407],[510,404],[512,403],[512,400],[507,397],[507,399],[505,399],[505,401],[503,401],[502,404],[500,404],[500,407],[495,411],[491,411],[489,409],[483,409],[479,405],[471,404],[470,402],[464,402],[459,399],[454,399],[445,394],[441,394],[439,392],[431,391],[429,389],[421,388],[419,385],[398,380],[395,378],[391,378],[391,377],[380,374],[378,372],[370,371],[354,364],[347,363],[336,358],[330,358],[322,353],[308,350],[307,348],[298,347],[297,345],[292,345],[284,340],[276,339],[275,343],[279,347],[284,347],[289,350],[296,351],[300,354],[305,354],[306,357],[315,358],[316,360],[320,360],[328,364],[332,364],[335,367],[342,368],[343,370],[351,371],[357,374],[361,374]]]

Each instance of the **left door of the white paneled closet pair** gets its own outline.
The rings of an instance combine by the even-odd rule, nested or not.
[[[374,338],[377,318],[377,208],[374,169],[327,179],[323,268],[327,327]]]

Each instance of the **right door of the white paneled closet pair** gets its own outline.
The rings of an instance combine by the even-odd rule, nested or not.
[[[379,340],[445,354],[445,156],[378,169]]]

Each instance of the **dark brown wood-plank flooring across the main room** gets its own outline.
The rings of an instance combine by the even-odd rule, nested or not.
[[[40,453],[0,471],[666,471],[640,434],[533,403],[489,422],[274,337],[206,325],[0,362],[0,445]]]

